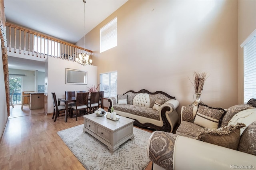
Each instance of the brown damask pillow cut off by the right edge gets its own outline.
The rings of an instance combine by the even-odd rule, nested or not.
[[[242,133],[238,151],[256,156],[256,121],[251,123]]]

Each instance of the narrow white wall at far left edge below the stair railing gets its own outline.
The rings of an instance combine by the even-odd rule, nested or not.
[[[0,44],[2,49],[2,45]],[[4,69],[3,69],[3,58],[2,50],[0,50],[0,136],[4,132],[4,127],[7,122],[7,105],[6,105],[6,93],[5,93],[5,84],[4,84]]]

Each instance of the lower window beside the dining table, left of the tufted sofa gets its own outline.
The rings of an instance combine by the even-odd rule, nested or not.
[[[104,91],[104,97],[117,96],[117,72],[100,74],[100,91]]]

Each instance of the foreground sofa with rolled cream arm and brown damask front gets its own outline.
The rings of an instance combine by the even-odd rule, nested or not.
[[[226,109],[221,128],[245,124],[238,133],[237,149],[197,140],[202,127],[193,123],[198,107],[182,106],[182,123],[176,134],[155,131],[148,141],[153,170],[230,170],[256,168],[256,99]],[[237,129],[236,129],[237,130]],[[234,134],[233,133],[233,134]],[[223,138],[230,134],[213,134]],[[209,138],[209,135],[207,136]],[[226,136],[225,140],[226,140]],[[219,138],[218,138],[219,139]],[[229,138],[231,139],[231,138]],[[232,143],[227,140],[226,143]]]

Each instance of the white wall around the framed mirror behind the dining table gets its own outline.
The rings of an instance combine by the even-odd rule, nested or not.
[[[97,85],[97,67],[93,65],[81,65],[76,62],[49,57],[48,65],[48,109],[47,114],[53,113],[52,92],[56,98],[65,97],[65,91],[88,91],[88,87]],[[87,85],[66,84],[66,68],[87,71]]]

